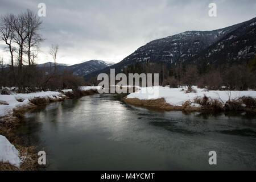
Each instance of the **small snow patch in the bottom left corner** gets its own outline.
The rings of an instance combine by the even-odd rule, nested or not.
[[[20,166],[19,151],[3,135],[0,135],[0,162]]]

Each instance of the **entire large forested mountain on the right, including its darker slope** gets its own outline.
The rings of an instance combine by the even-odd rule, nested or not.
[[[186,31],[167,38],[153,40],[139,47],[121,62],[108,68],[90,73],[109,73],[110,69],[121,71],[135,62],[165,62],[168,64],[225,63],[233,60],[246,60],[256,53],[256,18],[233,26],[213,31]]]

